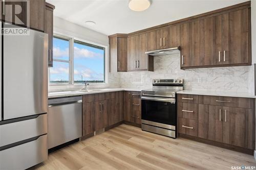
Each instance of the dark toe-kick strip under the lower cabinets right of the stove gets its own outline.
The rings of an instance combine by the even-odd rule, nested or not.
[[[207,143],[210,145],[215,145],[216,147],[225,148],[225,149],[229,149],[229,150],[237,151],[237,152],[242,152],[242,153],[249,154],[249,155],[253,155],[253,153],[254,153],[254,155],[255,155],[255,151],[253,149],[237,147],[237,146],[234,146],[231,144],[221,143],[221,142],[203,139],[203,138],[196,137],[196,136],[185,135],[185,134],[181,134],[181,133],[179,133],[179,137],[195,140],[195,141],[202,142],[202,143]],[[254,156],[254,158],[255,158],[255,156]]]

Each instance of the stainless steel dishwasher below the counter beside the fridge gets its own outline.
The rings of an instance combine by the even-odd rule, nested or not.
[[[49,99],[48,149],[57,150],[81,136],[82,96]]]

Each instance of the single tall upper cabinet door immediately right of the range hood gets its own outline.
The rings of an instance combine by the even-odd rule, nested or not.
[[[180,26],[181,68],[200,65],[200,22],[184,23]]]

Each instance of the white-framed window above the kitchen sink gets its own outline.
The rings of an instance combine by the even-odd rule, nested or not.
[[[50,85],[105,82],[105,48],[54,35]]]

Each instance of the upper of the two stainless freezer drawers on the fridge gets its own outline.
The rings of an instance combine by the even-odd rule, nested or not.
[[[20,122],[0,125],[0,147],[47,134],[47,114],[35,115],[29,118]]]

